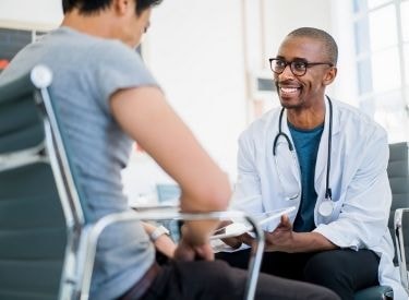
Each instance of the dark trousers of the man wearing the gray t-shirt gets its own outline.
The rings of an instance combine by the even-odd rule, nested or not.
[[[160,266],[156,279],[139,299],[241,300],[246,274],[222,261],[170,262]],[[266,274],[260,274],[254,299],[339,300],[329,289]]]

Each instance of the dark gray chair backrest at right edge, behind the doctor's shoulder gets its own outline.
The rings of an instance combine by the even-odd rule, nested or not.
[[[388,227],[392,237],[395,237],[394,215],[397,208],[409,207],[409,146],[407,142],[389,144],[389,163],[387,166],[387,173],[392,190],[392,206],[389,214]],[[409,224],[404,224],[404,231],[408,232]],[[407,255],[409,254],[409,238],[405,239],[405,249]],[[395,239],[394,239],[395,243]],[[395,265],[398,264],[395,244]]]

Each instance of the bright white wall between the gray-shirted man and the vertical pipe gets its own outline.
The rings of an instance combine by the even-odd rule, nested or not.
[[[200,142],[233,173],[237,136],[245,125],[240,4],[166,0],[151,23],[151,70]]]

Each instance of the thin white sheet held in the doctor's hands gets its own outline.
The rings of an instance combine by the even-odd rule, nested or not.
[[[280,223],[280,217],[296,209],[296,206],[269,211],[262,214],[253,215],[260,226],[269,223],[272,228],[276,228]],[[251,231],[253,227],[250,224],[234,221],[226,227],[219,228],[215,235],[210,236],[210,240],[226,239],[237,237]]]

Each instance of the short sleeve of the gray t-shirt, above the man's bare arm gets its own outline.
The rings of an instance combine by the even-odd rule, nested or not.
[[[96,49],[98,53],[94,59],[95,72],[92,81],[96,87],[96,100],[101,108],[110,115],[110,97],[113,93],[123,88],[139,86],[156,86],[156,80],[144,64],[140,53],[135,50],[115,41],[104,45],[104,51]]]

